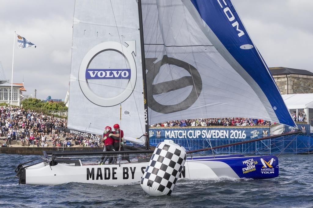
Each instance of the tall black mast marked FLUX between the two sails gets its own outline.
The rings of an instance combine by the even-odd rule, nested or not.
[[[145,45],[143,40],[143,24],[141,0],[138,0],[138,17],[139,17],[139,32],[140,32],[140,48],[141,48],[141,64],[142,64],[142,79],[143,79],[143,103],[145,106],[145,129],[146,129],[146,148],[150,149],[149,143],[149,119],[148,119],[148,102],[147,102],[147,87],[146,87],[146,62],[145,62]]]

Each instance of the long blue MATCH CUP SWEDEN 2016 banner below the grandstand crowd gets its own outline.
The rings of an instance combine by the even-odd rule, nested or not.
[[[150,128],[150,139],[257,139],[269,128]]]

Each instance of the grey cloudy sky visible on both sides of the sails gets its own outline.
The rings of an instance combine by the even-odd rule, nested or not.
[[[313,72],[312,0],[232,0],[269,67]],[[17,49],[13,82],[37,98],[64,99],[69,89],[74,0],[0,0],[0,61],[11,81],[14,31],[37,45]]]

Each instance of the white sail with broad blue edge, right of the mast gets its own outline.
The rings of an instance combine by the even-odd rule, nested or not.
[[[149,124],[249,117],[295,126],[230,0],[144,0]]]

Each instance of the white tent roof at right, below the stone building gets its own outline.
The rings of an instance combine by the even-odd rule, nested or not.
[[[313,93],[282,95],[288,109],[313,108]]]

